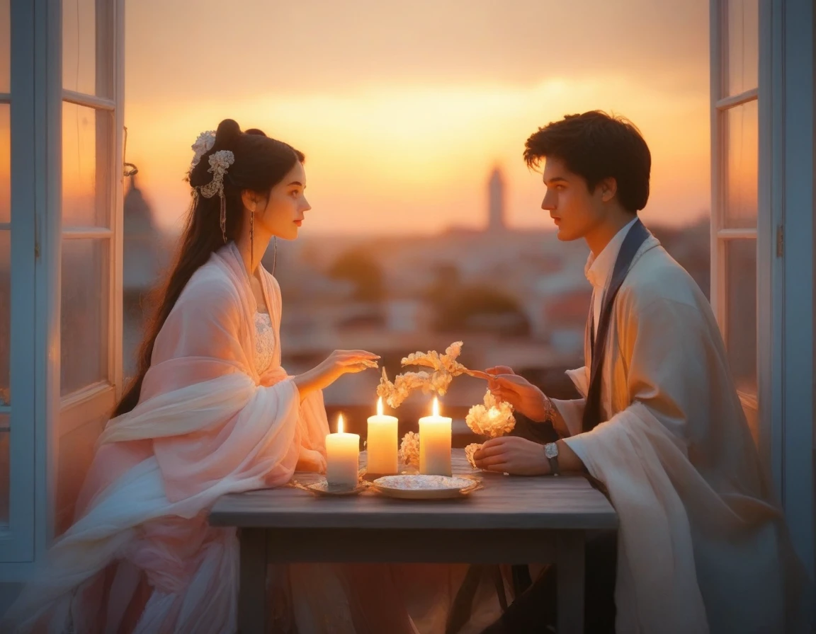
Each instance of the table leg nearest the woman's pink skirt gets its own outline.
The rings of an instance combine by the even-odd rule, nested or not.
[[[241,570],[238,581],[239,634],[266,634],[266,531],[242,528]]]

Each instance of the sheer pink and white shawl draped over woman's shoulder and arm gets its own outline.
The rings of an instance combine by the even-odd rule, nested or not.
[[[215,267],[199,272],[157,337],[139,405],[100,438],[152,438],[171,501],[225,479],[233,491],[280,485],[299,451],[295,384],[256,382],[237,289]]]

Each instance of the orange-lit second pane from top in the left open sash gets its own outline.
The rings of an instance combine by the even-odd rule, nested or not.
[[[111,113],[62,104],[63,227],[107,227]]]

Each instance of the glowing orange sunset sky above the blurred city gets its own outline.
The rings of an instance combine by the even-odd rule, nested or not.
[[[629,117],[653,157],[647,221],[707,213],[707,0],[131,0],[127,161],[162,227],[197,134],[232,117],[307,156],[304,231],[482,227],[501,165],[513,227],[550,227],[521,161],[568,112]]]

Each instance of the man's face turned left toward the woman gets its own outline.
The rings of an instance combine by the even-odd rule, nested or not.
[[[558,227],[558,240],[579,240],[603,222],[601,187],[589,192],[586,179],[570,172],[564,161],[548,156],[544,163],[543,182],[547,193],[541,209],[550,213]]]

